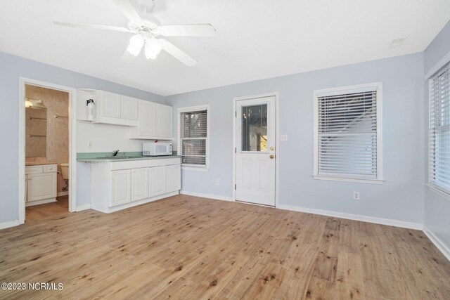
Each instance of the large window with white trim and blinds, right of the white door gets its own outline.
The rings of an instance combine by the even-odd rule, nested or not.
[[[314,91],[314,178],[381,183],[381,90]]]

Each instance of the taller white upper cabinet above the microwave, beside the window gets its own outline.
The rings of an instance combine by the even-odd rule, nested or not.
[[[139,123],[129,129],[129,138],[173,138],[174,107],[146,100],[139,100]]]

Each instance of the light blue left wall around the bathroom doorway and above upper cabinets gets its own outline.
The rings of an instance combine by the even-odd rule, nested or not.
[[[162,96],[0,52],[0,223],[18,219],[19,77],[73,88],[104,89],[164,103]],[[80,199],[79,204],[84,204]]]

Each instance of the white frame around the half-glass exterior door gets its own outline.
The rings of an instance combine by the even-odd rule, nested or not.
[[[279,165],[280,165],[280,155],[279,155],[279,150],[280,150],[280,141],[278,140],[278,136],[279,136],[279,124],[278,124],[278,91],[276,92],[272,92],[272,93],[261,93],[261,94],[257,94],[257,95],[252,95],[252,96],[243,96],[243,97],[234,97],[233,98],[233,148],[231,148],[231,152],[233,152],[233,186],[231,187],[231,189],[233,190],[233,202],[236,202],[236,153],[235,153],[235,148],[236,148],[236,117],[237,117],[237,112],[236,112],[236,106],[238,101],[241,100],[252,100],[252,99],[256,99],[256,98],[266,98],[266,97],[275,97],[275,207],[278,208],[278,174],[279,174]],[[255,204],[255,205],[259,205],[259,204]],[[264,205],[265,206],[265,205]]]

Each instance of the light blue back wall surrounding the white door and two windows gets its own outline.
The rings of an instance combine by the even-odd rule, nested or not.
[[[312,179],[313,91],[378,81],[383,82],[385,183]],[[184,170],[183,190],[232,196],[232,99],[275,91],[279,130],[288,134],[277,153],[280,204],[423,223],[423,53],[167,96],[175,114],[176,107],[210,104],[210,171]],[[352,199],[354,191],[361,200]]]

